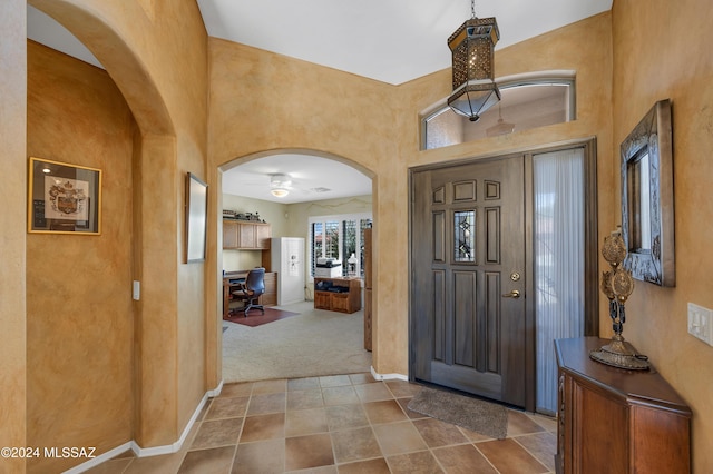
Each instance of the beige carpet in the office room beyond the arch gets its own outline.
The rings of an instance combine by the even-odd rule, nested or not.
[[[363,312],[314,309],[312,302],[277,308],[300,314],[257,327],[222,322],[224,383],[371,371]]]

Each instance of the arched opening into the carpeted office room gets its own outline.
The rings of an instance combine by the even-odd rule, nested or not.
[[[372,223],[370,172],[341,157],[313,150],[281,150],[233,160],[221,167],[221,210],[226,221],[229,224],[233,216],[237,216],[268,223],[273,243],[287,237],[296,240],[303,246],[305,260],[300,268],[304,274],[303,300],[289,306],[277,302],[274,307],[297,317],[258,327],[246,327],[247,320],[243,320],[242,314],[223,322],[223,381],[369,372],[371,354],[363,344],[367,295],[363,288],[361,309],[353,314],[315,309],[312,299],[315,248],[322,251],[322,220],[331,223],[336,259],[346,260],[352,254],[361,256],[361,230]],[[284,181],[286,196],[271,194],[271,180],[274,188],[275,176]],[[232,245],[224,239],[223,249],[218,250],[219,267],[227,275],[225,282],[255,266],[267,267],[268,275],[277,266],[271,261],[270,250],[237,249]],[[345,268],[346,261],[338,270],[341,276],[348,275]],[[224,304],[222,300],[219,306]]]

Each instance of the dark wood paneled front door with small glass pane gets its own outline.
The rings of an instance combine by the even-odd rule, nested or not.
[[[411,376],[526,404],[525,158],[411,180]]]

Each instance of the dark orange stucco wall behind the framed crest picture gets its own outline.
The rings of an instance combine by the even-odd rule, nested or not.
[[[102,170],[101,235],[27,236],[27,443],[131,440],[131,151],[136,127],[105,71],[28,42],[29,156]],[[40,456],[28,472],[70,467]]]

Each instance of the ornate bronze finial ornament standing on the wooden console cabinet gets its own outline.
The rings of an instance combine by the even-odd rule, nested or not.
[[[602,256],[609,263],[612,269],[602,274],[602,293],[609,299],[609,317],[614,336],[612,342],[597,350],[589,353],[589,357],[603,364],[629,371],[646,371],[649,367],[648,357],[637,354],[631,344],[624,340],[622,332],[626,322],[624,303],[634,292],[634,278],[622,263],[626,258],[626,245],[621,229],[604,238]]]

